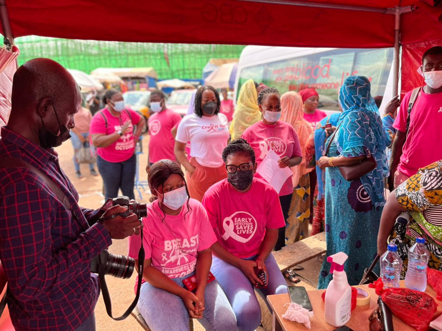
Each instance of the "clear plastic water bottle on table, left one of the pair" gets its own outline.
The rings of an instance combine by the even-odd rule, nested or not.
[[[389,244],[387,252],[381,257],[381,278],[384,287],[399,287],[402,260],[398,254],[398,246]]]

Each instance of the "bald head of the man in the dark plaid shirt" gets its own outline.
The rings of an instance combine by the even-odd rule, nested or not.
[[[58,135],[61,127],[74,127],[81,94],[68,70],[53,60],[36,58],[14,74],[11,103],[8,127],[38,142],[42,129]]]

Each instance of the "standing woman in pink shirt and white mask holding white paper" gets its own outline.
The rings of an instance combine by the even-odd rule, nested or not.
[[[273,150],[279,156],[275,168],[294,167],[302,160],[302,150],[299,145],[298,135],[292,125],[280,121],[281,98],[275,88],[266,88],[258,95],[258,107],[262,114],[262,120],[249,126],[241,138],[245,139],[255,151],[258,165],[263,161],[269,150]],[[258,178],[262,178],[257,174]],[[284,220],[287,221],[290,202],[293,196],[292,176],[287,178],[281,190],[278,192]],[[304,231],[307,232],[308,228]],[[304,237],[307,233],[301,233]],[[279,229],[278,241],[275,251],[285,246],[285,227]]]

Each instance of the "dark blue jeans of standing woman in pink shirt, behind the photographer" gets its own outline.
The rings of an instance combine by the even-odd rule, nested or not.
[[[135,199],[135,170],[137,157],[132,155],[123,162],[108,162],[100,155],[97,155],[97,167],[103,178],[104,198],[115,198],[118,196],[118,189],[129,199]]]

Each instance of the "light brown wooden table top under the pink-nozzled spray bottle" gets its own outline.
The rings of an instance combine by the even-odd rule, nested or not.
[[[401,286],[405,287],[403,284],[401,284]],[[352,328],[354,331],[369,330],[368,316],[370,316],[371,312],[377,306],[378,296],[374,292],[374,289],[368,288],[368,285],[361,285],[360,287],[364,288],[368,293],[370,293],[371,297],[370,297],[370,304],[364,306],[356,306],[356,308],[351,312],[351,318],[345,325]],[[311,330],[313,331],[315,330],[331,331],[336,329],[335,326],[330,325],[324,319],[324,302],[321,298],[321,294],[324,291],[325,290],[307,291],[314,313],[313,317],[310,319]],[[431,295],[438,305],[434,317],[440,315],[440,313],[442,312],[442,306],[441,306],[442,302],[436,299],[436,294],[431,288],[431,286],[428,285],[425,292]],[[287,306],[284,307],[284,304],[290,302],[290,297],[288,294],[268,295],[267,301],[272,307],[274,331],[308,330],[303,324],[293,322],[291,320],[281,317],[281,315],[284,314],[287,310]],[[400,320],[394,315],[393,315],[393,324],[395,330],[400,330],[400,331],[414,330],[414,328],[408,326],[406,323],[404,323],[402,320]]]

